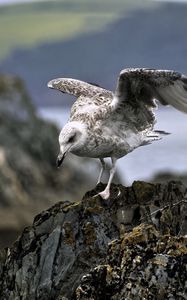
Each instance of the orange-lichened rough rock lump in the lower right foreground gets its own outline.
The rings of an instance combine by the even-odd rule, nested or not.
[[[187,238],[142,224],[109,245],[104,263],[86,274],[76,299],[185,299]]]

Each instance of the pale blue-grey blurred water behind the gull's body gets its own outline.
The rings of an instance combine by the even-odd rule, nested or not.
[[[39,115],[61,128],[67,122],[69,111],[67,108],[42,108]],[[122,183],[149,180],[158,172],[187,172],[187,115],[169,108],[159,109],[156,115],[156,129],[172,134],[151,145],[139,147],[121,158],[118,171]]]

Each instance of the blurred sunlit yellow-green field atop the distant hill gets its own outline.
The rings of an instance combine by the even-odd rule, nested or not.
[[[17,48],[67,40],[104,30],[132,9],[153,5],[144,0],[54,0],[0,7],[0,61]]]

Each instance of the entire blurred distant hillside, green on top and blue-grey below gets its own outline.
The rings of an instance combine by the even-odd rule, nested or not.
[[[125,67],[187,73],[186,3],[58,0],[0,12],[1,73],[23,78],[37,106],[61,105],[62,95],[47,89],[52,78],[114,90]],[[63,104],[70,99],[63,97]]]

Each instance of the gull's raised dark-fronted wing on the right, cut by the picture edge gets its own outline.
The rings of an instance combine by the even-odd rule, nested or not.
[[[145,68],[120,72],[113,99],[114,111],[129,111],[136,127],[152,127],[155,99],[187,113],[187,77],[175,71]]]

